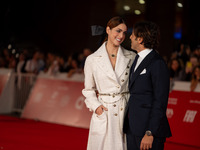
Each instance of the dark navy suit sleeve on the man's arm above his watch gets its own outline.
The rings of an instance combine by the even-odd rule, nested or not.
[[[159,59],[153,64],[151,78],[154,98],[148,128],[156,135],[166,117],[169,96],[169,72],[164,60]]]

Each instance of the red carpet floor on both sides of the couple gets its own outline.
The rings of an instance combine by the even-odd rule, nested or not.
[[[88,129],[0,115],[0,150],[86,150]],[[200,150],[166,142],[165,150]]]

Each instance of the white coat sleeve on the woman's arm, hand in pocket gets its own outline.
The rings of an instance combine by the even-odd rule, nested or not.
[[[95,110],[101,105],[101,103],[97,99],[96,95],[96,83],[94,79],[94,70],[92,67],[92,57],[88,56],[84,66],[84,89],[82,90],[82,94],[85,96],[85,104],[90,111],[95,112]]]

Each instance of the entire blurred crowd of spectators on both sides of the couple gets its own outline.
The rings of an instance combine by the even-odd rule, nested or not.
[[[16,73],[33,73],[38,75],[41,71],[49,75],[67,73],[71,77],[74,73],[83,73],[85,59],[93,51],[83,48],[80,53],[72,53],[68,57],[53,52],[41,50],[30,51],[23,49],[17,52],[8,48],[1,49],[0,68],[12,68]],[[171,56],[163,56],[170,72],[170,80],[191,82],[191,91],[194,91],[200,82],[200,45],[191,49],[190,45],[181,43],[179,48],[171,53]]]

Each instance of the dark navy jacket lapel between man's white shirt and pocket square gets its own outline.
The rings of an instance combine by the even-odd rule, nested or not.
[[[129,88],[131,88],[132,84],[134,83],[135,79],[137,78],[138,75],[140,75],[140,73],[142,72],[142,70],[144,68],[146,68],[149,64],[150,61],[152,60],[152,58],[155,55],[155,50],[152,50],[145,58],[144,60],[141,62],[141,64],[138,66],[138,68],[135,70],[135,72],[132,75],[132,79],[131,82],[129,84]]]

